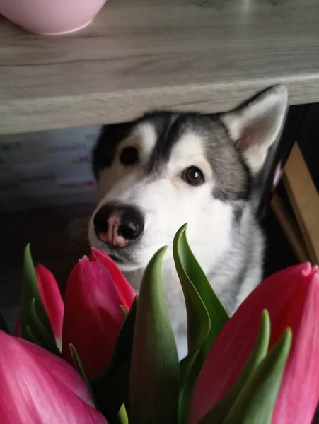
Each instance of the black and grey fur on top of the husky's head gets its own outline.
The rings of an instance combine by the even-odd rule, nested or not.
[[[222,201],[248,200],[253,187],[252,175],[236,148],[236,141],[230,139],[219,117],[220,114],[153,112],[136,121],[103,126],[93,152],[95,177],[98,179],[99,170],[112,165],[118,144],[135,126],[151,122],[156,129],[157,141],[146,165],[146,173],[160,170],[169,160],[180,136],[185,131],[194,131],[206,140],[207,159],[217,182],[213,196]],[[240,216],[239,211],[237,216]]]

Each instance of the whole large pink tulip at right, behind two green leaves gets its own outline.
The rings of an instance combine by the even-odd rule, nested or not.
[[[253,349],[264,309],[271,321],[269,348],[287,327],[293,332],[272,424],[311,423],[319,399],[319,271],[301,264],[263,281],[224,326],[195,382],[190,424],[199,423],[236,382]]]

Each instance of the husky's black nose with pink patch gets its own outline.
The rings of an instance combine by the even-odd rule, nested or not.
[[[125,247],[144,230],[144,217],[134,206],[106,204],[94,217],[98,239],[110,246]]]

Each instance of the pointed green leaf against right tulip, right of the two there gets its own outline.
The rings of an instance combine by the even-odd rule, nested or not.
[[[223,424],[270,424],[291,346],[287,329],[236,399]]]

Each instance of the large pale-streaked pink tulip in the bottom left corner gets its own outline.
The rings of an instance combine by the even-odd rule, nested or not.
[[[14,424],[107,424],[61,358],[0,331],[0,417]]]

